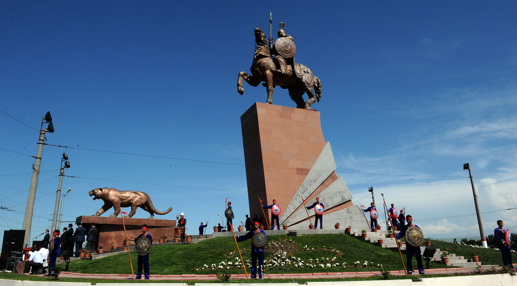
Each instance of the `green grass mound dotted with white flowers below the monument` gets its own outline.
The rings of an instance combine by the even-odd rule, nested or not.
[[[432,245],[442,247],[437,240],[433,240]],[[248,273],[250,272],[250,247],[251,240],[239,243]],[[455,253],[451,247],[448,248],[449,253]],[[479,249],[476,250],[479,251]],[[462,251],[468,252],[463,249]],[[500,264],[495,261],[496,257],[500,260],[500,252],[490,249],[483,251],[488,251],[480,255],[483,263],[486,263],[483,260],[485,255],[486,257],[490,255],[492,257],[490,261],[494,262],[491,264]],[[457,253],[457,255],[463,254]],[[131,251],[131,258],[136,272],[138,255],[135,251]],[[405,260],[404,253],[403,258]],[[267,274],[378,271],[377,265],[381,264],[389,266],[391,270],[403,269],[398,251],[365,243],[346,234],[313,234],[296,237],[270,235],[264,259]],[[233,237],[210,238],[192,245],[155,244],[149,255],[149,264],[151,274],[154,275],[217,274],[222,270],[231,274],[244,273]],[[413,264],[413,268],[417,269],[415,259]],[[443,268],[446,265],[431,262],[430,266]],[[70,271],[91,274],[131,273],[126,252],[92,261],[74,261],[70,263]]]

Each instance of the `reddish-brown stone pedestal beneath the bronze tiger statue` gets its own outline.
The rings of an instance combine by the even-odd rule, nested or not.
[[[114,243],[117,244],[117,247],[124,245],[125,235],[122,218],[79,216],[75,219],[75,223],[77,224],[78,222],[82,222],[83,227],[86,228],[86,234],[92,228],[92,222],[95,223],[95,227],[99,231],[97,245],[103,244],[105,251],[110,250]],[[174,229],[177,228],[176,220],[168,219],[124,218],[124,224],[126,226],[126,234],[132,238],[129,241],[129,245],[134,245],[133,239],[142,234],[143,224],[147,224],[149,233],[154,236],[156,242],[158,242],[158,238],[165,234],[169,236],[168,239],[173,239]],[[98,247],[96,246],[95,249],[98,249]]]

